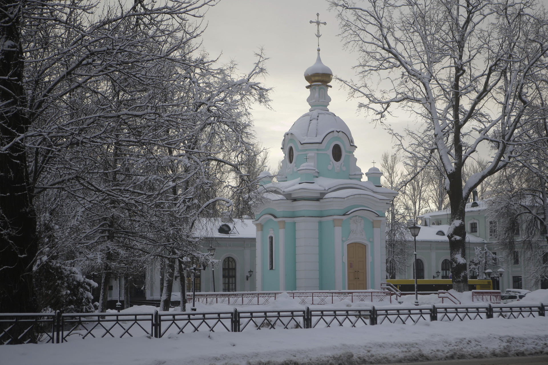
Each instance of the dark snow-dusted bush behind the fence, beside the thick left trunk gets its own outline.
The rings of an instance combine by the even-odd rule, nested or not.
[[[85,279],[78,269],[44,256],[38,259],[33,276],[38,310],[60,310],[64,313],[94,311],[91,290],[97,284]]]

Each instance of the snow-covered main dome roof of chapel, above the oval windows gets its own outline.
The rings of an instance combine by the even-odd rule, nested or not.
[[[350,144],[354,145],[350,128],[343,119],[323,110],[313,110],[302,115],[293,123],[286,135],[295,135],[300,143],[322,143],[323,138],[333,131],[343,132],[349,138]]]

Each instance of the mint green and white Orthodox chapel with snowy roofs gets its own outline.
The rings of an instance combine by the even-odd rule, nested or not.
[[[376,167],[362,181],[352,133],[328,109],[333,73],[317,51],[304,74],[310,109],[283,136],[276,181],[260,176],[257,291],[380,289],[386,278],[385,212],[397,192]]]

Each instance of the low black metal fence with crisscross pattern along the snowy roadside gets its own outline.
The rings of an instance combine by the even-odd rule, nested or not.
[[[362,327],[383,323],[465,321],[545,316],[546,307],[488,305],[389,306],[371,309],[250,310],[225,312],[0,314],[0,344],[63,343],[75,338],[155,337],[191,332]]]

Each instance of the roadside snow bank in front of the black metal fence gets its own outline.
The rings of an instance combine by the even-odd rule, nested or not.
[[[548,355],[546,317],[0,346],[2,363],[18,365],[356,365],[542,354]]]

